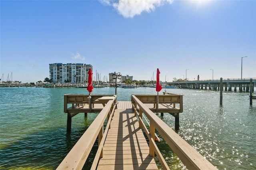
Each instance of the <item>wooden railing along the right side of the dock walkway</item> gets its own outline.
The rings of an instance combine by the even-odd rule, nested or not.
[[[169,95],[166,95],[169,96]],[[159,132],[162,138],[170,146],[173,152],[178,156],[182,163],[188,169],[192,170],[216,170],[208,160],[206,160],[200,153],[198,153],[190,144],[188,144],[183,138],[181,138],[172,128],[168,127],[158,116],[156,116],[136,95],[132,95],[132,106],[135,115],[139,119],[140,128],[144,128],[146,135],[149,139],[149,154],[150,156],[158,157],[164,170],[170,169],[164,160],[159,148],[155,143],[155,130]],[[138,111],[137,111],[138,108]],[[142,113],[150,121],[150,130],[143,123]]]

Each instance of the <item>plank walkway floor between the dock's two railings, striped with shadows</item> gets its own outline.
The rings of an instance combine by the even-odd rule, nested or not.
[[[98,170],[158,170],[130,101],[119,101]]]

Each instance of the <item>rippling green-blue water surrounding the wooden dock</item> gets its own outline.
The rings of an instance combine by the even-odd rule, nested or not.
[[[223,106],[220,106],[218,91],[166,91],[184,95],[178,134],[200,154],[218,169],[256,169],[256,100],[250,106],[249,93],[224,92]],[[97,116],[76,115],[72,118],[72,131],[67,133],[63,95],[68,93],[88,94],[88,91],[85,88],[0,88],[0,169],[58,167]],[[114,93],[112,87],[94,88],[92,92]],[[117,94],[119,101],[130,101],[131,94],[157,92],[154,88],[118,88]],[[165,113],[162,120],[174,129],[174,117]],[[186,169],[164,142],[158,146],[171,169]],[[91,162],[92,158],[87,164]]]

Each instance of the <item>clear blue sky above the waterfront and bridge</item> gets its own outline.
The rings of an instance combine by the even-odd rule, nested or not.
[[[241,78],[244,56],[243,78],[256,77],[255,0],[1,0],[0,24],[3,81],[43,81],[50,63],[101,79]]]

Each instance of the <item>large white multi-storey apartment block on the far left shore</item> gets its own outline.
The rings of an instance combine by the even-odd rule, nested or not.
[[[92,69],[92,65],[84,63],[49,64],[50,79],[59,83],[86,83],[89,69]]]

